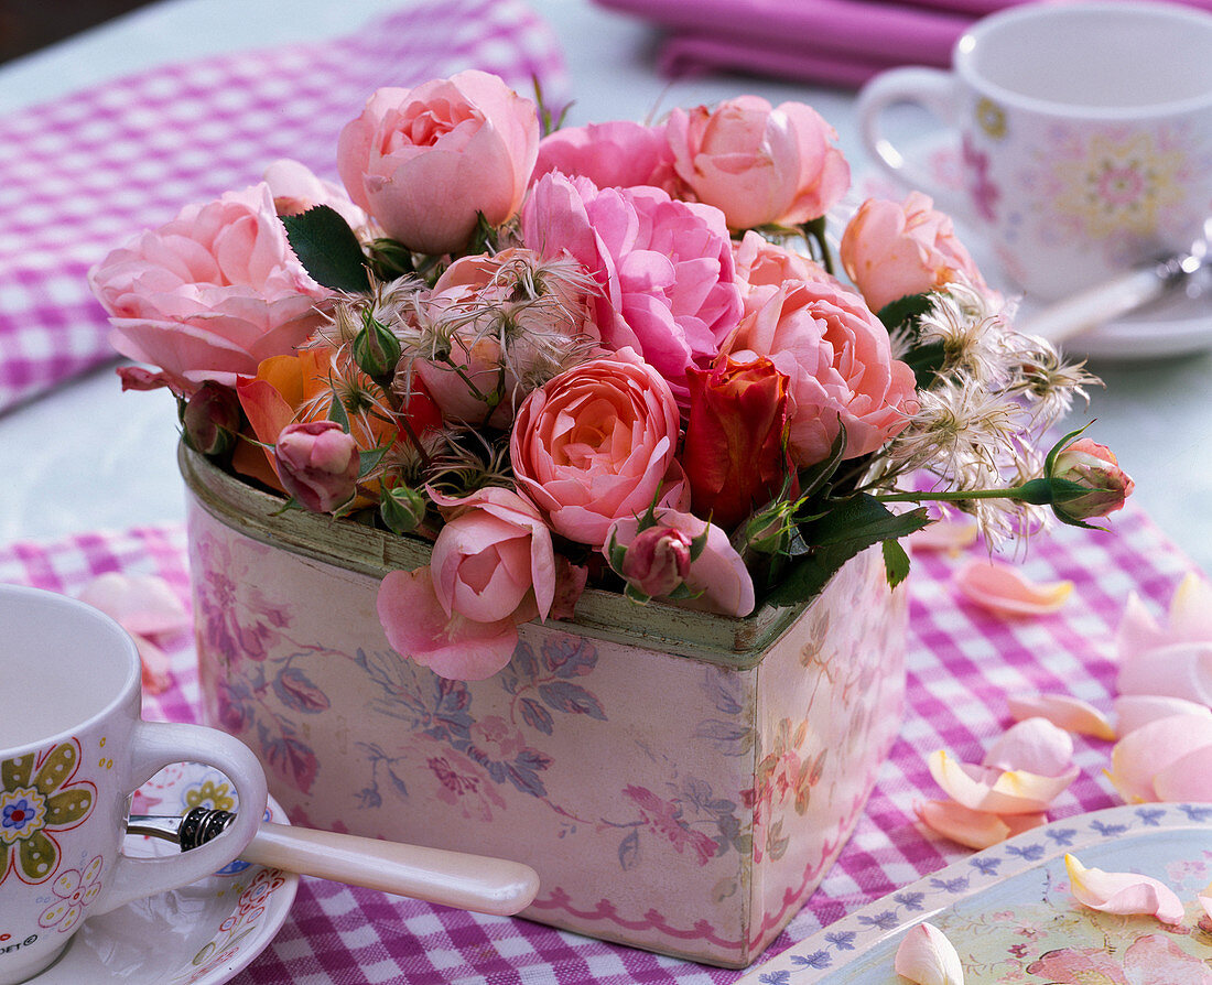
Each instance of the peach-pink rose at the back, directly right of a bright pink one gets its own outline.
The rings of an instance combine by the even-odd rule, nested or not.
[[[811,107],[758,96],[669,114],[674,170],[690,194],[721,208],[731,229],[805,223],[850,188],[837,138]]]

